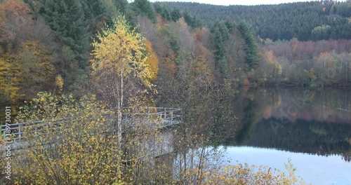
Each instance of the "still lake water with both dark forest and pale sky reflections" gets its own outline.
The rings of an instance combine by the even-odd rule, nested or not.
[[[284,170],[307,184],[351,184],[351,89],[256,88],[233,101],[239,126],[227,139],[233,164]]]

